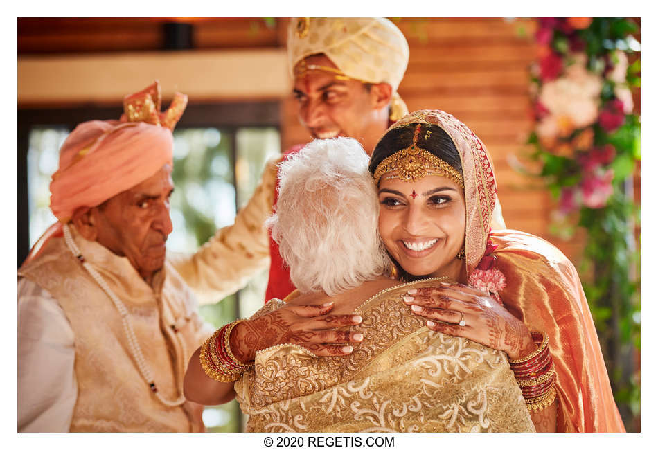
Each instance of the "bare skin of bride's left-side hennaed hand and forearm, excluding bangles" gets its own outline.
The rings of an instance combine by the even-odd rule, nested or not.
[[[361,316],[328,314],[333,303],[324,305],[285,305],[263,316],[241,321],[231,330],[229,347],[244,364],[254,362],[256,352],[282,343],[301,345],[317,356],[350,354],[351,345],[363,335],[349,330],[335,330],[361,323]],[[184,378],[184,393],[192,402],[215,405],[235,397],[233,383],[222,383],[206,375],[201,364],[201,348],[192,355]]]

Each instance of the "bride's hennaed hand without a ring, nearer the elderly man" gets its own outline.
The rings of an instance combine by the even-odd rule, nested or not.
[[[333,307],[333,303],[285,305],[240,322],[231,332],[231,350],[244,363],[254,361],[256,351],[284,343],[301,345],[319,357],[350,354],[353,348],[349,344],[362,341],[363,334],[334,329],[357,325],[362,318],[353,314],[328,314]]]

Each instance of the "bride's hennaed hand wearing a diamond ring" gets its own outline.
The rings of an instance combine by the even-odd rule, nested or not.
[[[486,292],[441,283],[409,290],[404,303],[414,314],[430,319],[430,330],[502,350],[510,359],[522,358],[537,348],[528,327]]]

